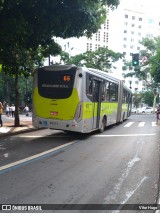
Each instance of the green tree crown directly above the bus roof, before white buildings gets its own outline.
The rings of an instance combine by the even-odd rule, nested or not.
[[[96,51],[87,51],[83,54],[72,56],[71,58],[61,55],[65,63],[75,64],[77,66],[86,66],[90,68],[108,71],[112,68],[112,63],[122,58],[121,53],[116,53],[108,48],[100,47]]]

